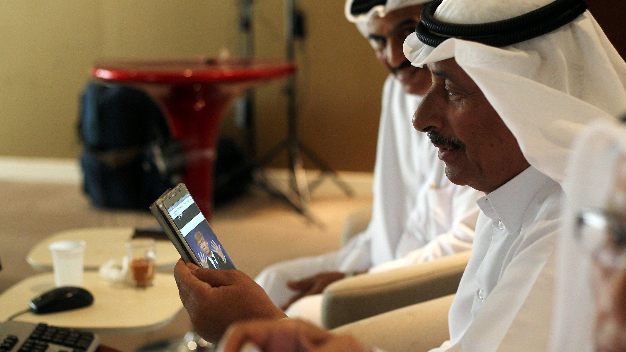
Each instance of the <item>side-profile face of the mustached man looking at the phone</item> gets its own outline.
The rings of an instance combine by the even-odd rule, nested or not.
[[[476,83],[454,59],[429,65],[432,85],[413,116],[454,184],[492,192],[530,165]]]

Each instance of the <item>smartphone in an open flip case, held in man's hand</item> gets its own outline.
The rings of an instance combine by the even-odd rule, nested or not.
[[[150,211],[185,262],[208,269],[236,269],[184,184],[167,190],[150,205]]]

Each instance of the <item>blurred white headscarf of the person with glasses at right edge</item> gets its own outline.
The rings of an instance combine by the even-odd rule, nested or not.
[[[593,123],[575,143],[568,178],[565,224],[558,243],[552,352],[593,352],[595,303],[590,249],[574,234],[581,208],[607,209],[615,179],[626,165],[626,128],[617,123]],[[625,209],[626,210],[626,209]]]

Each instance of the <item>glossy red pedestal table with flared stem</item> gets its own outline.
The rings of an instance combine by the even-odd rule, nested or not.
[[[293,63],[256,59],[120,61],[91,68],[95,78],[141,88],[161,106],[185,150],[183,182],[207,219],[222,116],[245,90],[294,72]]]

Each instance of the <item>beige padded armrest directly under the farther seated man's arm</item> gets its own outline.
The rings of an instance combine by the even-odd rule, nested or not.
[[[467,251],[432,262],[334,282],[324,290],[322,325],[337,328],[456,293],[470,254]]]

